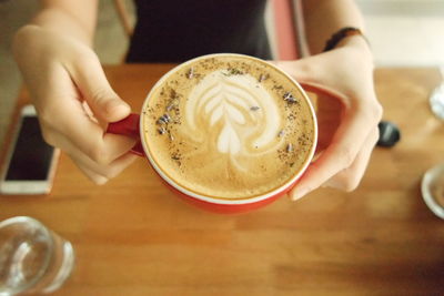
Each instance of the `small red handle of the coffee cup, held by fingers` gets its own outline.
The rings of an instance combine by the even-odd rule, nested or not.
[[[131,113],[128,118],[124,118],[118,122],[111,122],[108,124],[107,133],[111,134],[121,134],[134,137],[138,140],[135,145],[130,150],[131,153],[142,156],[145,156],[143,151],[142,143],[140,142],[140,115],[135,113]]]

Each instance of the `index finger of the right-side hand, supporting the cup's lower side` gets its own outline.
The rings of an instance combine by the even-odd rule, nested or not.
[[[321,186],[337,172],[351,166],[370,134],[369,126],[376,125],[374,121],[374,119],[369,119],[362,105],[346,109],[332,144],[317,161],[309,166],[301,181],[291,191],[291,197],[293,200],[302,197]]]

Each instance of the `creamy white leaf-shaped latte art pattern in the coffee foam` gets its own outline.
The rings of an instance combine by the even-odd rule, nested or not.
[[[251,106],[259,106],[261,112],[251,112]],[[196,130],[196,118],[208,119],[210,130],[222,121],[216,147],[231,155],[242,151],[240,126],[245,123],[252,123],[251,129],[261,129],[252,143],[255,147],[275,141],[281,126],[279,114],[276,102],[256,79],[250,74],[229,75],[223,70],[199,82],[185,106],[185,121],[192,131]]]

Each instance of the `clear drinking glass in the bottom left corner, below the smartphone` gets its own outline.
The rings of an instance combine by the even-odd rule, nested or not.
[[[51,293],[70,276],[74,252],[31,217],[0,222],[0,296]]]

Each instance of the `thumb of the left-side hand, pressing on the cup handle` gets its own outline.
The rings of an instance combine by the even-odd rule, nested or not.
[[[131,113],[130,105],[111,88],[94,53],[73,68],[73,80],[82,93],[93,115],[101,122],[115,122]]]

